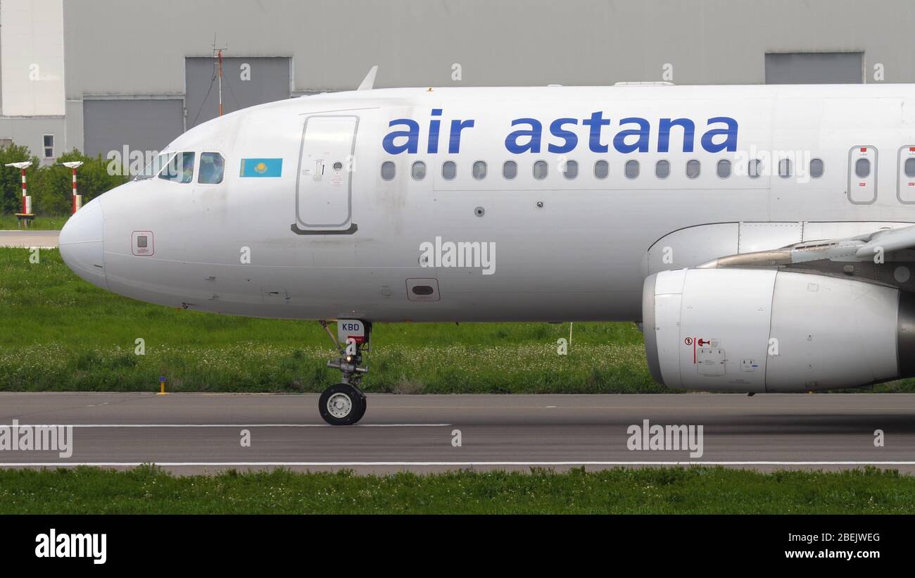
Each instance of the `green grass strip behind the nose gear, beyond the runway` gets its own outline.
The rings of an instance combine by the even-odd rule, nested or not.
[[[140,303],[88,284],[59,252],[0,249],[0,390],[323,391],[339,374],[318,323],[216,316]],[[650,393],[631,323],[379,324],[366,391]],[[136,339],[145,355],[136,355]],[[876,391],[915,391],[915,380]]]

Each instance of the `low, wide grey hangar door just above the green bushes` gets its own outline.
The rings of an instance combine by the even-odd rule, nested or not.
[[[184,132],[184,104],[179,99],[84,100],[83,148],[86,155],[110,151],[160,151]]]

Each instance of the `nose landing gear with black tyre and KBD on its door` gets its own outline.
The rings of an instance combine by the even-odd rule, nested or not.
[[[365,393],[359,389],[362,376],[369,372],[362,367],[362,353],[369,351],[369,337],[371,337],[371,324],[363,323],[364,340],[348,338],[344,345],[340,345],[337,337],[330,331],[327,321],[321,321],[321,326],[328,332],[334,345],[339,350],[340,357],[328,361],[328,368],[339,369],[340,382],[330,386],[321,393],[318,400],[318,412],[321,418],[330,425],[352,425],[359,422],[365,415],[367,400]]]

